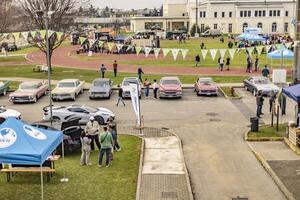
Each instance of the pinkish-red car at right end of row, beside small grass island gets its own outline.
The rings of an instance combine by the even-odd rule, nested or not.
[[[198,78],[195,83],[197,95],[218,95],[218,86],[212,78]]]

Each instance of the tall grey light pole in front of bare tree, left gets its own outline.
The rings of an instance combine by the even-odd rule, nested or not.
[[[38,17],[45,19],[45,29],[46,29],[46,57],[47,57],[47,67],[48,67],[48,87],[49,87],[49,111],[50,111],[50,124],[52,126],[52,93],[51,93],[51,62],[50,62],[50,44],[49,44],[49,18],[54,12],[52,11],[36,11]]]

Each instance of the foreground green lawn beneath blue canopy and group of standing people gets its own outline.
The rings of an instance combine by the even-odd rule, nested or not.
[[[62,159],[56,163],[56,174],[45,181],[45,199],[48,200],[129,200],[135,199],[139,169],[141,140],[133,136],[120,136],[121,152],[116,152],[109,168],[98,168],[98,152],[91,154],[92,166],[81,167],[80,151],[65,159],[68,183],[63,177]],[[17,174],[6,182],[0,174],[1,199],[40,199],[40,174]]]

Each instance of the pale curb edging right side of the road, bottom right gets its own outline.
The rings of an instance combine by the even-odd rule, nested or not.
[[[256,159],[260,162],[260,164],[263,166],[266,172],[271,176],[279,190],[284,194],[286,199],[296,200],[293,194],[285,187],[285,185],[282,183],[282,181],[279,179],[279,177],[276,175],[276,173],[273,171],[273,169],[270,167],[267,161],[263,158],[263,156],[256,152],[249,142],[246,143],[248,144],[250,150],[252,151]]]

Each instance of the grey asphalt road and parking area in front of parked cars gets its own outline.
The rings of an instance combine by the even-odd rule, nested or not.
[[[115,99],[116,95],[113,101],[90,101],[85,93],[76,103],[107,107],[116,113],[119,123],[133,124],[131,102],[116,107]],[[69,103],[73,102],[55,104]],[[0,97],[1,104],[21,111],[25,120],[36,121],[42,116],[41,108],[47,105],[47,98],[37,105],[12,105],[6,97]],[[244,142],[248,119],[231,101],[197,97],[187,90],[181,100],[143,99],[142,112],[146,126],[169,127],[182,139],[196,199],[284,199]]]

